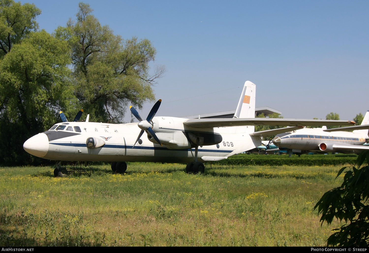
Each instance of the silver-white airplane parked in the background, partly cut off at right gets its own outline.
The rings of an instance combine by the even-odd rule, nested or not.
[[[322,128],[303,128],[289,133],[277,134],[273,144],[279,150],[287,150],[289,156],[292,152],[297,154],[308,152],[340,152],[340,153],[359,153],[369,149],[368,145],[363,145],[369,141],[369,111],[366,112],[361,125],[352,127],[341,127],[327,129]],[[351,131],[353,132],[345,132]],[[277,150],[273,149],[272,151]]]

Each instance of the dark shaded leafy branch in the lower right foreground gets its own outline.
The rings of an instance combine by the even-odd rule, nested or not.
[[[322,214],[322,225],[332,223],[334,218],[345,220],[346,224],[327,240],[327,246],[368,246],[369,243],[369,151],[361,152],[355,166],[339,170],[337,177],[345,169],[344,182],[322,196],[314,206]],[[363,166],[361,167],[362,165]],[[361,167],[361,168],[360,168]],[[336,177],[336,179],[337,179]]]

